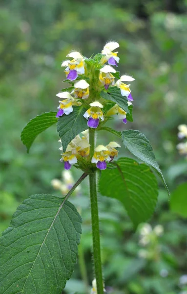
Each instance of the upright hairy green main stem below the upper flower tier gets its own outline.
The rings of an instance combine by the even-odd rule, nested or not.
[[[90,155],[93,156],[95,147],[95,131],[89,130]],[[101,246],[99,231],[99,214],[96,188],[96,172],[89,175],[90,183],[90,202],[91,202],[91,220],[92,220],[92,238],[93,238],[93,259],[95,268],[95,277],[97,283],[97,294],[104,294],[103,275],[101,262]]]

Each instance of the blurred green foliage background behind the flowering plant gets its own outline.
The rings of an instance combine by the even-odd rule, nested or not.
[[[31,194],[58,193],[58,134],[42,133],[30,154],[20,140],[29,119],[55,111],[65,78],[61,62],[72,49],[87,57],[108,40],[119,42],[119,70],[136,78],[133,123],[154,148],[170,191],[187,181],[187,160],[178,154],[177,126],[187,123],[187,0],[9,0],[0,9],[0,231]],[[104,141],[111,141],[104,135]],[[108,137],[106,137],[108,136]],[[114,140],[114,138],[112,138]],[[116,139],[116,138],[115,138]],[[99,139],[101,140],[101,139]],[[105,143],[104,142],[104,143]],[[119,142],[120,143],[120,142]],[[129,155],[125,149],[120,155]],[[75,179],[79,172],[72,169]],[[124,208],[100,197],[102,255],[111,294],[187,294],[187,221],[170,211],[162,183],[150,223],[164,233],[142,245]],[[89,284],[93,279],[87,183],[74,201],[82,206],[82,247]],[[143,251],[141,251],[143,250]],[[148,252],[148,253],[145,253]],[[85,294],[80,262],[64,293]]]

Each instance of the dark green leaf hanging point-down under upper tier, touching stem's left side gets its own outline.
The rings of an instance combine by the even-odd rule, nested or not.
[[[57,131],[62,140],[62,147],[65,151],[67,145],[78,134],[88,128],[87,121],[83,117],[87,108],[83,106],[73,106],[73,112],[69,115],[63,115],[57,123]]]

